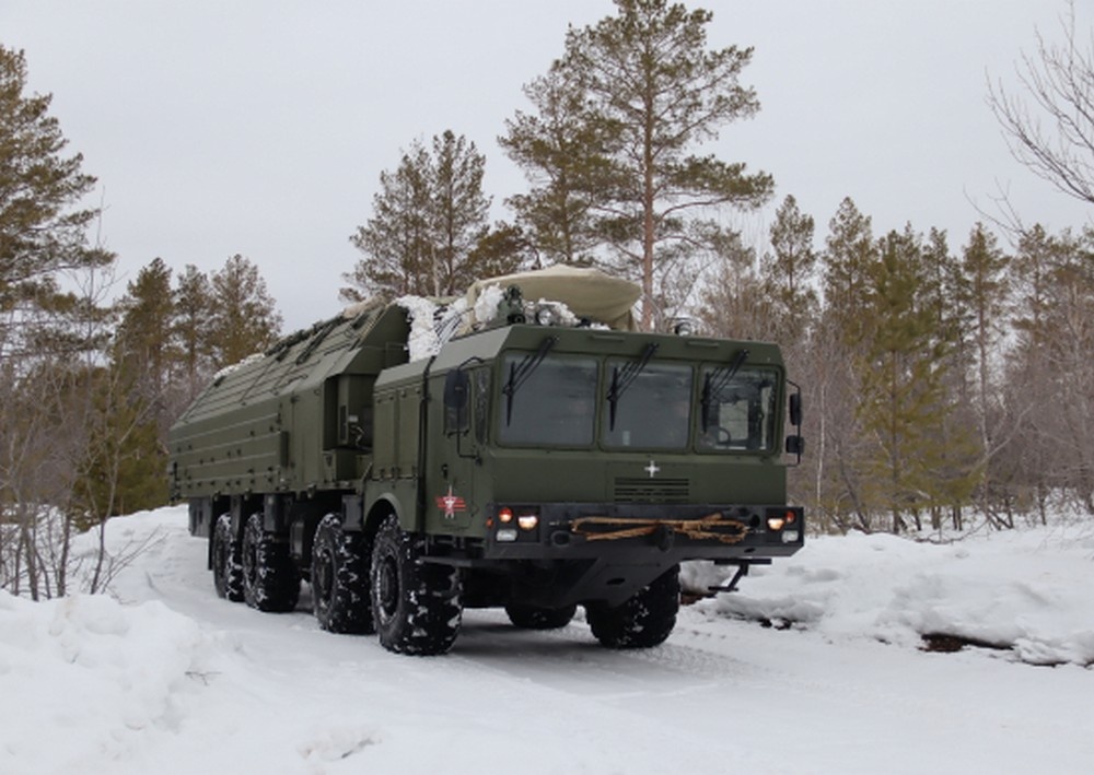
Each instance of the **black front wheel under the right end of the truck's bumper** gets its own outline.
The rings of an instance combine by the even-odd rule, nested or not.
[[[680,607],[679,565],[657,576],[621,606],[585,607],[593,635],[608,648],[649,648],[664,643]]]

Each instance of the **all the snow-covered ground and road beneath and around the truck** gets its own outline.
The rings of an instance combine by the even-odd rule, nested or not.
[[[816,539],[686,607],[659,648],[603,649],[580,614],[534,633],[468,611],[451,654],[414,658],[319,631],[306,588],[283,615],[218,599],[185,524],[110,524],[114,545],[159,535],[113,598],[0,592],[0,773],[1094,766],[1089,528]],[[931,653],[924,634],[997,648]]]

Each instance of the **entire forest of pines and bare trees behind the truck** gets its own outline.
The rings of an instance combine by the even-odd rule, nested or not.
[[[702,9],[616,7],[570,28],[505,122],[528,183],[505,199],[512,220],[490,222],[473,141],[414,140],[349,235],[361,259],[344,301],[597,266],[640,285],[647,330],[690,316],[783,345],[808,439],[792,497],[814,526],[962,528],[976,513],[1010,527],[1060,493],[1094,514],[1094,232],[875,234],[851,199],[821,231],[785,196],[746,244],[726,224],[772,204],[775,180],[702,146],[759,109],[741,83],[752,49],[711,48]],[[281,317],[240,255],[208,274],[153,259],[112,298],[116,256],[89,242],[95,178],[25,83],[23,54],[0,45],[0,514],[14,527],[0,584],[37,597],[66,591],[72,531],[165,502],[167,427]],[[1006,127],[1017,103],[993,96]],[[92,588],[110,573],[95,562]]]

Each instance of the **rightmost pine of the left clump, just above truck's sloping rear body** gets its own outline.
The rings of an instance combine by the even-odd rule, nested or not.
[[[266,290],[258,267],[240,254],[210,280],[212,312],[208,348],[213,366],[223,368],[263,352],[281,331],[281,314]]]

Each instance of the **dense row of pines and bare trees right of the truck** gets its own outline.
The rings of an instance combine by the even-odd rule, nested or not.
[[[874,234],[851,199],[823,247],[814,231],[787,197],[766,250],[734,245],[700,307],[714,334],[782,344],[814,524],[1014,527],[1060,494],[1094,515],[1094,232],[1004,247],[977,223],[952,249],[936,228]]]

